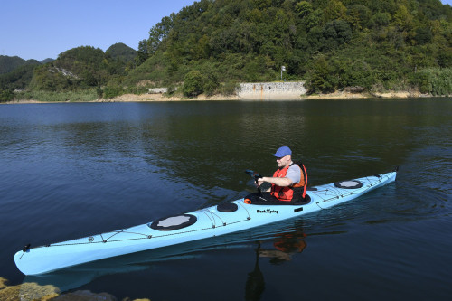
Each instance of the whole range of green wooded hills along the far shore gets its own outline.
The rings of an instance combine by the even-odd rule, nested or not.
[[[238,82],[281,80],[282,66],[284,80],[306,80],[313,93],[452,95],[452,7],[439,0],[201,0],[137,44],[138,52],[121,43],[62,52],[33,67],[33,79],[29,69],[0,75],[0,100],[20,87],[90,98],[150,85],[228,94]]]

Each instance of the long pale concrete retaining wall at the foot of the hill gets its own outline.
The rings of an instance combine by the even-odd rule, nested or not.
[[[297,99],[306,94],[305,81],[241,83],[240,99]]]

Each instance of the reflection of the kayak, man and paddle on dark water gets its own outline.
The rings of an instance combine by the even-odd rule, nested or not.
[[[306,248],[306,234],[301,228],[302,225],[301,220],[282,221],[255,230],[244,230],[217,238],[98,260],[48,274],[27,276],[24,277],[23,283],[25,287],[34,283],[42,287],[57,287],[59,292],[66,292],[108,275],[146,270],[154,273],[156,264],[201,259],[214,250],[255,249],[255,265],[246,280],[246,297],[249,300],[257,300],[255,297],[259,296],[265,287],[264,277],[259,268],[259,258],[268,258],[270,264],[278,265],[292,260]]]

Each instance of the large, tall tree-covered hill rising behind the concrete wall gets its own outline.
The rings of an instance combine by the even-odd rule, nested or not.
[[[452,67],[451,22],[439,0],[201,0],[151,28],[127,82],[278,80],[286,66],[312,91],[408,89]]]

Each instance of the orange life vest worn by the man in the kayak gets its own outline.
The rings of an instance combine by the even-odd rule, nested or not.
[[[294,163],[292,163],[291,165],[294,165]],[[283,169],[278,169],[275,172],[275,174],[273,174],[273,177],[278,178],[286,177],[287,170],[291,165],[288,165]],[[271,195],[273,195],[279,201],[282,202],[291,202],[291,201],[295,202],[297,200],[305,199],[307,188],[307,174],[305,165],[303,165],[302,163],[300,165],[301,165],[299,166],[301,171],[300,182],[287,187],[280,187],[275,184],[271,184],[270,191]]]

